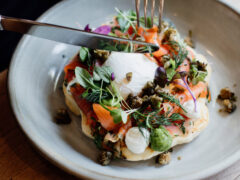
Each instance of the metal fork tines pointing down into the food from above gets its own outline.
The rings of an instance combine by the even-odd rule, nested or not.
[[[154,9],[155,9],[155,0],[151,0],[151,27],[153,26],[153,18],[154,18]],[[158,8],[158,31],[161,32],[162,30],[162,14],[163,14],[163,5],[164,0],[159,0],[159,8]],[[140,0],[135,0],[135,6],[136,6],[136,14],[137,14],[137,25],[140,26],[139,23],[139,9],[140,9]],[[147,25],[147,7],[148,7],[148,0],[144,0],[144,21],[145,25]]]

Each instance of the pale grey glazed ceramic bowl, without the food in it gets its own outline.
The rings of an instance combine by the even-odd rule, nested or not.
[[[152,159],[119,160],[103,167],[96,163],[97,150],[82,134],[78,118],[66,126],[53,122],[54,112],[65,107],[60,89],[63,67],[79,48],[24,36],[9,72],[11,103],[23,131],[50,161],[76,176],[94,179],[196,179],[217,173],[240,158],[240,111],[222,116],[216,103],[219,90],[225,86],[240,97],[240,17],[213,0],[167,0],[165,4],[166,17],[183,36],[189,29],[193,31],[197,51],[213,67],[209,126],[191,143],[174,148],[167,166],[157,167]],[[114,7],[134,9],[134,2],[67,0],[39,21],[75,28],[90,23],[96,27],[116,14]],[[177,160],[178,156],[182,159]]]

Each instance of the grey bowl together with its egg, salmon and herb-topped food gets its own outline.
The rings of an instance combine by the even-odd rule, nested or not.
[[[26,35],[9,71],[17,120],[47,159],[78,177],[213,175],[240,159],[239,15],[214,0],[169,0],[159,33],[157,18],[137,25],[134,3],[69,0],[44,13],[40,22],[159,50],[96,50]]]

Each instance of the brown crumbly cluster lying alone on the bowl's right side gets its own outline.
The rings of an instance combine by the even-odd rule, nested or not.
[[[220,94],[218,95],[218,100],[220,100],[221,104],[224,106],[219,112],[233,113],[237,108],[235,104],[237,97],[229,88],[221,89]]]

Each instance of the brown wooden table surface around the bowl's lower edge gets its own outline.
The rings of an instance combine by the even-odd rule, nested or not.
[[[32,147],[9,104],[7,70],[0,73],[0,179],[76,179],[53,166]],[[206,180],[240,180],[240,161]]]

